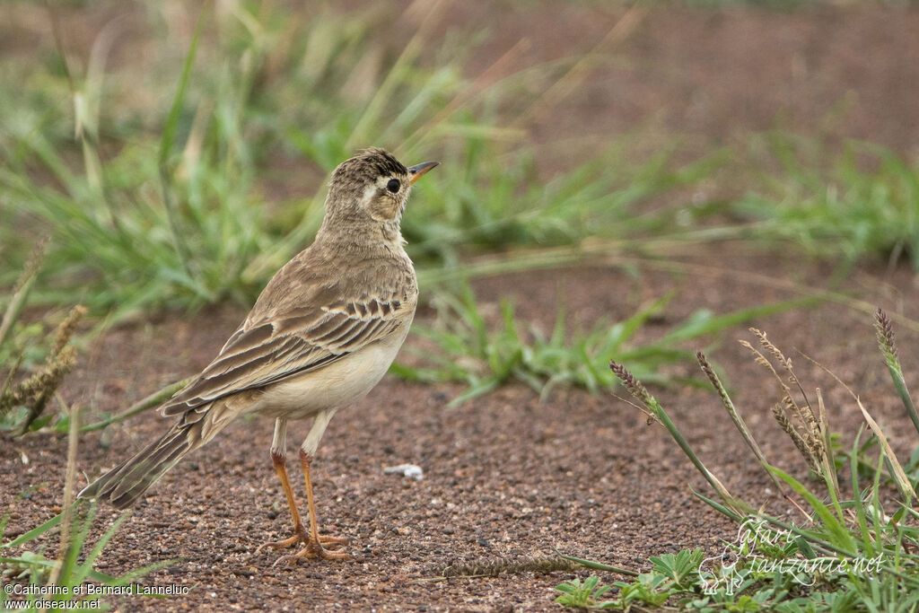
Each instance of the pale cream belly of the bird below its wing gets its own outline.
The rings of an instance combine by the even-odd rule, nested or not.
[[[326,409],[341,409],[363,398],[380,382],[408,334],[366,346],[328,366],[271,385],[246,411],[266,417],[306,419]]]

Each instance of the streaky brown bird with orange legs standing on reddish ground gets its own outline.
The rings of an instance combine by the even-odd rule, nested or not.
[[[346,539],[319,535],[312,461],[335,412],[380,381],[408,334],[418,284],[401,221],[412,185],[438,164],[406,167],[371,147],[338,165],[313,243],[268,281],[217,357],[160,407],[165,417],[177,418],[175,425],[79,496],[127,508],[233,420],[270,417],[271,462],[287,497],[293,535],[258,551],[303,545],[276,563],[350,558],[343,551]],[[289,420],[308,418],[312,426],[300,462],[309,529],[290,487],[286,451]]]

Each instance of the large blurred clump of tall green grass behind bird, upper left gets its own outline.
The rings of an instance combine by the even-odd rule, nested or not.
[[[69,72],[66,57],[64,74],[53,75],[79,109],[70,118],[75,142],[58,142],[54,130],[65,110],[0,118],[0,210],[17,221],[0,228],[0,242],[16,240],[15,228],[36,220],[55,239],[47,269],[58,289],[35,301],[82,294],[94,312],[117,310],[109,322],[164,306],[249,303],[309,241],[322,212],[323,176],[358,148],[400,142],[424,117],[426,96],[442,106],[462,84],[456,63],[443,71],[414,65],[418,40],[397,59],[375,47],[366,34],[379,26],[379,11],[291,20],[270,6],[259,12],[234,4],[216,13],[199,19],[180,74],[153,84],[173,93],[158,130],[129,125],[119,133],[104,123],[100,100],[137,81],[109,77],[104,87],[103,51],[84,78]],[[201,36],[214,27],[219,36]],[[171,55],[172,43],[158,42]],[[196,67],[199,53],[213,70]],[[355,64],[367,61],[357,72],[369,89],[349,83]],[[14,106],[30,103],[2,93]],[[414,96],[421,96],[414,112],[400,114]],[[393,126],[401,129],[381,138]],[[298,166],[285,177],[303,190],[280,202],[269,194],[279,161]]]

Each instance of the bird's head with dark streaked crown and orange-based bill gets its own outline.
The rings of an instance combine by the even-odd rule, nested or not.
[[[398,226],[412,184],[437,164],[406,167],[384,149],[365,149],[332,173],[325,201],[326,221],[338,218]]]

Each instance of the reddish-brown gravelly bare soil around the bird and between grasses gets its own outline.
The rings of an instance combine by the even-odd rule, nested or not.
[[[601,6],[557,11],[530,3],[456,12],[460,21],[487,18],[497,24],[471,70],[487,67],[524,35],[531,45],[528,61],[586,51],[622,15],[621,9]],[[618,61],[595,68],[586,93],[569,101],[564,114],[538,122],[536,137],[594,129],[617,133],[664,117],[666,129],[724,142],[777,121],[810,130],[834,105],[850,99],[845,120],[834,124],[836,135],[915,153],[919,67],[911,60],[919,56],[917,27],[914,9],[658,9],[617,43]],[[571,40],[578,41],[573,48]],[[832,273],[793,255],[730,244],[700,248],[684,264],[681,271],[640,266],[636,276],[600,262],[487,278],[476,288],[486,305],[511,296],[521,320],[544,328],[559,296],[572,322],[589,327],[601,317],[628,316],[675,289],[677,299],[641,331],[640,342],[663,335],[698,309],[729,312],[798,297],[801,289],[821,287]],[[793,353],[795,348],[852,385],[888,427],[894,447],[908,453],[914,433],[875,348],[870,309],[881,304],[919,321],[919,285],[905,267],[891,272],[871,265],[844,285],[864,305],[827,301],[749,324],[766,329],[788,350],[809,391],[823,389],[834,429],[847,433],[845,440],[860,422],[856,407],[825,373]],[[69,402],[94,411],[118,411],[207,364],[243,316],[224,306],[121,326],[87,349],[62,392]],[[744,328],[709,339],[709,355],[727,373],[735,402],[767,458],[805,478],[800,457],[769,414],[780,396],[775,381],[733,340],[750,338]],[[914,373],[919,328],[903,322],[897,329],[902,360]],[[410,336],[408,343],[418,341]],[[671,370],[695,374],[691,365]],[[256,554],[260,543],[289,531],[283,493],[268,460],[271,423],[229,426],[168,473],[99,558],[99,570],[112,574],[175,560],[142,582],[187,585],[189,593],[165,601],[116,597],[111,604],[121,610],[548,610],[557,608],[553,587],[574,573],[440,575],[450,565],[517,562],[552,555],[555,548],[645,570],[649,556],[695,546],[714,551],[718,539],[732,538],[732,525],[689,491],[691,485],[708,492],[664,429],[649,426],[643,414],[614,395],[559,390],[543,403],[527,387],[512,384],[448,409],[460,391],[389,377],[335,416],[315,464],[315,489],[323,529],[351,540],[353,562],[274,566],[277,553]],[[781,508],[712,393],[689,387],[653,392],[733,493]],[[83,437],[79,484],[165,427],[150,412]],[[291,458],[306,430],[305,424],[293,427]],[[13,506],[5,539],[60,512],[65,453],[62,437],[0,438],[0,502]],[[383,472],[406,462],[421,466],[424,479]],[[16,502],[31,486],[37,488]],[[294,487],[302,499],[301,480],[295,479]],[[98,530],[117,515],[101,509]],[[51,551],[55,544],[48,543]]]

